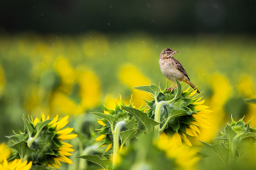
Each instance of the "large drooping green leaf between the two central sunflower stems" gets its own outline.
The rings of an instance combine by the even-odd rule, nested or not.
[[[136,120],[138,120],[138,122],[140,122],[143,125],[143,128],[145,128],[145,130],[147,132],[151,131],[152,128],[155,125],[159,125],[159,123],[157,123],[156,121],[154,121],[153,119],[149,118],[146,113],[141,112],[138,109],[135,109],[133,107],[125,107],[125,106],[121,106],[123,109],[125,109],[127,112],[131,113]]]

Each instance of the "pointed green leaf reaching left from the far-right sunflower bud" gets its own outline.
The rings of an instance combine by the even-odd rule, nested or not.
[[[201,142],[201,141],[199,141]],[[215,153],[217,153],[217,155],[219,156],[219,158],[221,158],[221,160],[225,163],[227,158],[228,158],[228,153],[230,152],[229,149],[222,147],[221,144],[208,144],[205,142],[201,142],[202,144],[206,145],[206,147],[208,147],[210,150],[214,151]]]

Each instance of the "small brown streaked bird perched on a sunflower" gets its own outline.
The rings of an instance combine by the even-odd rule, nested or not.
[[[178,53],[178,51],[173,51],[170,48],[166,48],[165,50],[162,50],[159,56],[159,66],[162,74],[164,74],[168,80],[171,80],[174,83],[176,82],[175,80],[175,77],[176,77],[177,80],[179,80],[180,82],[181,81],[186,82],[192,88],[197,90],[197,93],[200,93],[200,91],[197,88],[195,88],[195,85],[193,85],[192,82],[190,82],[189,76],[187,75],[187,72],[185,71],[181,63],[174,58],[175,53]],[[167,91],[171,90],[173,85],[170,86],[170,88],[167,88]]]

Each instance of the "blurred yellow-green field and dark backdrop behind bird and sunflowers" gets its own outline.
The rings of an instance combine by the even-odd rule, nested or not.
[[[140,107],[151,97],[132,87],[165,87],[166,47],[214,111],[192,144],[256,114],[255,1],[1,1],[0,15],[1,142],[22,115],[102,112],[119,94]]]

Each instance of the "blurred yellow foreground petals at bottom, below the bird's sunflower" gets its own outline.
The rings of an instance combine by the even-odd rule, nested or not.
[[[173,139],[170,139],[170,137],[162,133],[157,142],[157,147],[160,150],[164,150],[166,157],[172,158],[180,169],[197,169],[197,162],[200,161],[200,158],[197,157],[198,150],[191,150],[190,148],[179,146],[174,136]]]

